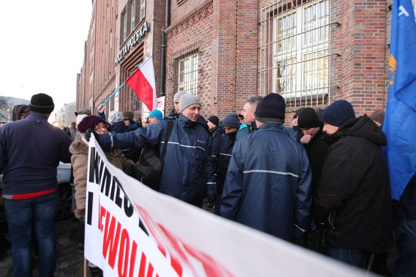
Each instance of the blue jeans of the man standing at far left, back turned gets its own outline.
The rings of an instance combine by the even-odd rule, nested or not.
[[[39,243],[39,276],[54,276],[57,204],[58,192],[22,200],[4,199],[7,225],[12,240],[13,276],[32,276],[32,225]]]

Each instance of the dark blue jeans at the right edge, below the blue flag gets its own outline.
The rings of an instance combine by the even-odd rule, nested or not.
[[[393,276],[416,275],[416,220],[399,218],[395,229],[399,257],[395,262]]]

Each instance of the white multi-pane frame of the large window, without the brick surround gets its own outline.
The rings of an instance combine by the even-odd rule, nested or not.
[[[315,13],[311,17],[312,9],[315,9]],[[322,12],[324,15],[320,16]],[[308,15],[313,20],[307,22]],[[319,18],[316,19],[316,16]],[[285,21],[285,25],[288,26],[284,30],[286,36],[285,33],[279,33],[281,20]],[[316,0],[299,5],[273,19],[272,35],[275,43],[273,45],[272,91],[280,93],[287,101],[328,93],[329,27],[317,28],[327,25],[328,20],[329,0]],[[313,31],[306,32],[307,29]],[[311,57],[316,53],[323,57],[307,60],[308,56]],[[285,68],[278,67],[279,63],[290,59],[292,63]],[[283,70],[285,75],[279,76],[279,70]],[[279,84],[285,85],[286,91],[280,91]]]

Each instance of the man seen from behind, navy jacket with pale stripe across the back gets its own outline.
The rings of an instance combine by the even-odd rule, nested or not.
[[[220,212],[224,218],[299,243],[309,226],[312,174],[304,147],[279,127],[285,111],[285,100],[276,93],[257,104],[258,129],[234,144]]]

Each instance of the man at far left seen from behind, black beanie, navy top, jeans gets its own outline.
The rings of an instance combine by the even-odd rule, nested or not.
[[[32,232],[39,244],[39,276],[53,276],[55,272],[56,168],[60,160],[71,162],[71,139],[48,123],[54,107],[50,96],[36,94],[30,100],[30,114],[0,128],[0,171],[4,169],[13,276],[32,276]]]

